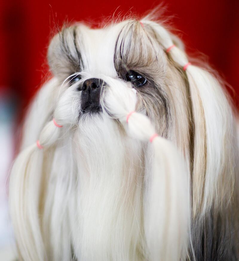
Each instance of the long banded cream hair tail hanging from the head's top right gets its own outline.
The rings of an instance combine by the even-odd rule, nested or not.
[[[232,126],[235,126],[235,121],[228,95],[215,76],[189,63],[180,42],[160,23],[142,21],[163,46],[168,62],[178,68],[187,81],[194,150],[191,159],[192,210],[194,215],[205,213],[212,205],[219,207],[226,204],[233,190],[233,155],[237,148],[233,142],[236,135]],[[222,199],[225,200],[223,203]]]

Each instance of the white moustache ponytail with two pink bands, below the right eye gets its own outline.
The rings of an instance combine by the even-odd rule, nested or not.
[[[150,250],[153,255],[152,260],[158,260],[159,257],[165,261],[179,260],[180,257],[186,257],[186,242],[189,238],[189,173],[176,147],[156,134],[153,124],[146,115],[136,112],[135,90],[125,89],[124,84],[115,81],[106,79],[111,88],[106,93],[102,107],[109,115],[119,119],[130,137],[140,141],[150,141],[153,149],[152,171],[149,179],[154,184],[151,184],[148,202],[145,202],[144,206],[144,211],[147,213],[145,236],[148,242],[145,249]],[[165,235],[169,236],[165,237]],[[175,245],[178,248],[172,251]]]

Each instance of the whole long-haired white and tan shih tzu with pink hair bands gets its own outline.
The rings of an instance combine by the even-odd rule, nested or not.
[[[19,260],[238,260],[234,111],[180,39],[79,23],[48,62],[10,174]]]

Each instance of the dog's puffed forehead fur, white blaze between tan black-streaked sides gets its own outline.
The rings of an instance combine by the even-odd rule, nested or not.
[[[67,74],[84,70],[92,77],[104,74],[114,78],[122,68],[159,75],[166,65],[151,28],[135,20],[100,29],[84,24],[64,28],[51,42],[48,59],[55,74],[62,75],[68,68]]]

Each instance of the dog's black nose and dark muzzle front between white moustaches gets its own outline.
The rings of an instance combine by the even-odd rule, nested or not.
[[[81,87],[81,109],[85,111],[98,111],[100,109],[99,99],[102,87],[102,79],[91,78],[84,81]]]

